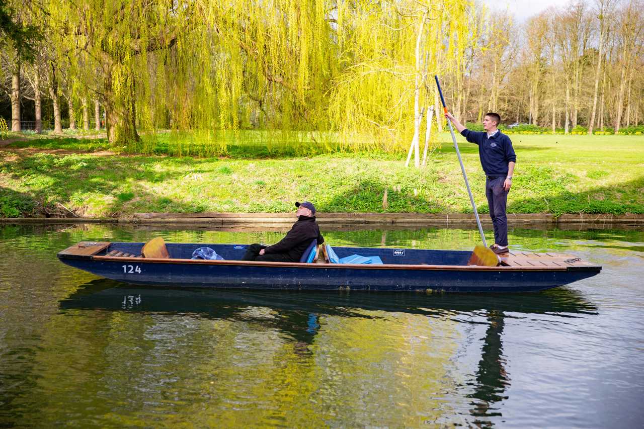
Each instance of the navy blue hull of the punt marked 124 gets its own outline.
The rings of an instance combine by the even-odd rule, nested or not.
[[[140,243],[120,244],[123,249],[140,249]],[[172,253],[173,249],[170,246],[169,249]],[[239,246],[236,246],[236,249],[239,251]],[[345,253],[356,250],[338,248],[339,252],[343,252],[343,249],[346,249]],[[413,265],[395,265],[392,263],[392,256],[385,252],[392,249],[357,250],[368,255],[381,254],[385,265],[345,266],[328,263],[256,263],[234,260],[220,262],[176,258],[146,260],[106,256],[70,257],[62,253],[59,253],[59,258],[71,267],[135,285],[222,289],[532,292],[573,283],[594,276],[601,270],[601,267],[596,265],[564,269],[471,267],[463,262],[467,260],[469,252],[417,249],[407,249],[408,257],[415,258],[412,260]],[[178,251],[179,248],[174,250],[175,253]],[[218,250],[218,253],[220,251],[225,253],[225,248]],[[454,265],[419,265],[422,257],[442,258]],[[461,265],[456,265],[456,262],[460,262]]]

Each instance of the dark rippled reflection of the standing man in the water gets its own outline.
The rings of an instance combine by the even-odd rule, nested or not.
[[[481,359],[478,362],[476,383],[474,393],[468,397],[472,401],[471,414],[477,417],[475,424],[486,427],[491,423],[482,417],[500,416],[501,412],[495,403],[498,403],[507,396],[504,396],[506,386],[509,385],[509,377],[506,373],[506,358],[503,356],[503,344],[501,334],[504,327],[503,312],[488,312],[488,329],[483,338]]]

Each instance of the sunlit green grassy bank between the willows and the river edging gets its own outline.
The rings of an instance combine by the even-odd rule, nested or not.
[[[113,148],[100,138],[28,137],[0,148],[0,216],[284,212],[301,199],[320,211],[471,213],[449,134],[424,170],[405,168],[405,154],[302,157],[289,146],[233,144],[229,157],[177,158],[105,152]],[[511,138],[510,213],[644,213],[641,136]],[[477,147],[460,143],[478,210],[486,213]],[[162,139],[159,146],[163,153]]]

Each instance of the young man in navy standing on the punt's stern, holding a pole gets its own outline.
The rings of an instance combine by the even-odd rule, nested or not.
[[[485,131],[470,131],[446,113],[459,133],[470,143],[478,144],[478,157],[486,174],[485,195],[488,197],[489,217],[494,227],[494,253],[507,253],[507,193],[512,187],[512,173],[515,171],[516,154],[507,135],[497,129],[501,122],[498,113],[486,113],[483,119]]]

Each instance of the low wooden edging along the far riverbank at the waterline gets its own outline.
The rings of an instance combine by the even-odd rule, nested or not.
[[[398,225],[421,227],[423,225],[475,224],[472,213],[318,213],[317,222],[325,226],[346,225]],[[482,224],[491,225],[488,214],[480,216]],[[204,225],[211,227],[234,227],[254,225],[281,227],[295,222],[294,213],[135,213],[122,218],[0,218],[5,224],[137,224],[137,225]],[[507,214],[511,225],[558,224],[609,224],[644,225],[644,214],[562,214],[551,213]]]

